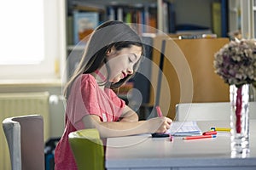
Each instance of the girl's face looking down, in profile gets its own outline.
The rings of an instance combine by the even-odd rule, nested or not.
[[[109,82],[119,82],[119,80],[133,74],[133,66],[140,59],[142,48],[132,45],[131,48],[123,48],[117,51],[111,48],[108,52],[108,65],[111,70]]]

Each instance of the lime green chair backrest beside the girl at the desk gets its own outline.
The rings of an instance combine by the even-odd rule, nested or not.
[[[69,133],[68,141],[79,170],[104,170],[104,150],[96,128]]]

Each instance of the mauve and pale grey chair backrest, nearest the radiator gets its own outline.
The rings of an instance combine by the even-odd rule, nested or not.
[[[13,170],[44,170],[44,119],[39,115],[3,120]]]

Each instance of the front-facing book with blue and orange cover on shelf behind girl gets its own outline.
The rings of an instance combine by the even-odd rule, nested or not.
[[[97,12],[73,12],[73,42],[83,42],[84,37],[96,29],[99,25],[99,14]]]

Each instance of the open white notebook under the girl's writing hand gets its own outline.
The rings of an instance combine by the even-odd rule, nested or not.
[[[166,133],[171,133],[173,136],[190,136],[201,134],[201,129],[195,121],[172,122],[171,128]]]

